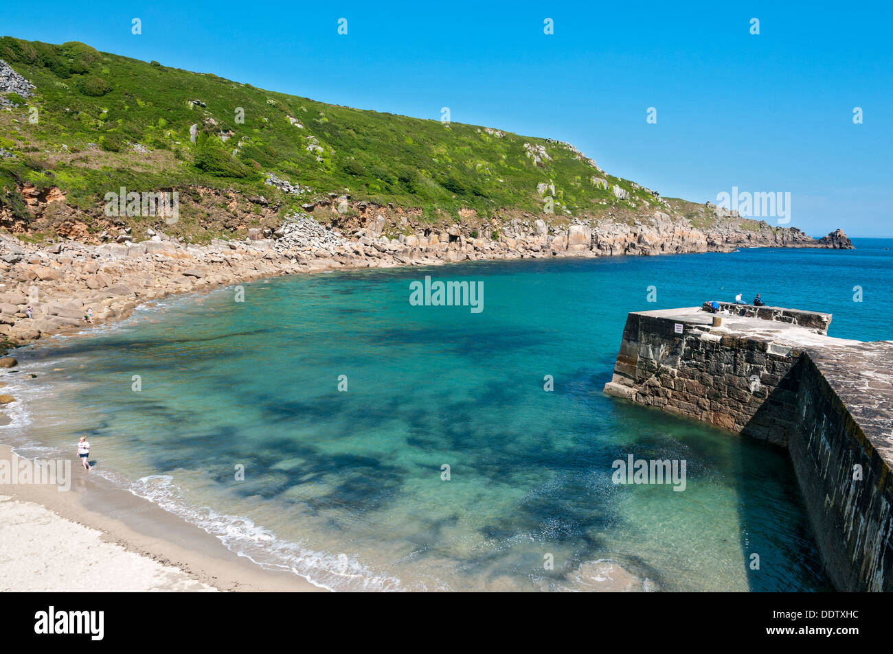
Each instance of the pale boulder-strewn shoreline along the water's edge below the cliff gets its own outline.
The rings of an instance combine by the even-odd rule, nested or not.
[[[31,344],[126,318],[138,305],[172,294],[289,274],[438,266],[463,261],[734,252],[748,246],[836,246],[836,242],[811,238],[809,243],[742,243],[729,238],[717,242],[697,229],[680,232],[672,221],[663,224],[661,220],[652,231],[638,236],[633,232],[632,236],[624,233],[610,237],[599,236],[597,230],[582,225],[550,235],[548,228],[543,233],[543,221],[536,222],[519,226],[515,237],[500,236],[498,240],[466,238],[457,228],[450,228],[439,237],[431,233],[389,239],[380,236],[380,231],[379,236],[366,236],[365,229],[346,237],[310,218],[285,223],[277,232],[282,235],[278,239],[255,234],[255,240],[213,239],[204,246],[152,230],[151,240],[142,243],[134,243],[122,232],[118,242],[101,245],[69,240],[39,246],[0,233],[0,356],[4,344]],[[369,231],[376,233],[371,228]],[[638,241],[643,239],[639,246]],[[615,248],[618,244],[622,247]]]

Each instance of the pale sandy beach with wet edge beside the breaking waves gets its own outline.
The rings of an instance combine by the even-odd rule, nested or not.
[[[13,463],[0,446],[0,463]],[[149,501],[89,478],[0,485],[0,592],[313,592]]]

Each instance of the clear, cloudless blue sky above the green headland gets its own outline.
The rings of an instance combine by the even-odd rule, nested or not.
[[[0,34],[364,109],[448,106],[454,121],[569,141],[665,196],[789,192],[790,225],[811,235],[893,236],[891,6],[46,0],[4,3]]]

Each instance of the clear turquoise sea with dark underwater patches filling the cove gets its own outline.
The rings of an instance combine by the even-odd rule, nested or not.
[[[0,441],[70,456],[87,435],[96,473],[337,590],[829,590],[785,451],[602,388],[630,310],[759,292],[833,313],[830,335],[893,338],[893,240],[854,242],[326,273],[245,285],[244,302],[233,287],[171,299],[18,352],[39,385],[11,384],[25,402]],[[426,275],[481,282],[483,310],[411,305]],[[685,490],[613,484],[629,454],[684,459]]]

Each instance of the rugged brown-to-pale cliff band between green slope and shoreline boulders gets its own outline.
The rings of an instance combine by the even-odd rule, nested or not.
[[[14,236],[53,235],[50,243],[61,238],[102,244],[138,241],[158,231],[179,235],[178,226],[167,225],[163,219],[109,217],[98,206],[88,211],[71,207],[56,187],[38,191],[25,185],[17,190],[29,219],[16,219],[10,211],[0,209],[0,228],[7,228]],[[416,248],[422,256],[453,248],[459,253],[456,256],[467,255],[469,259],[490,258],[497,253],[522,258],[731,252],[741,247],[853,247],[840,229],[815,239],[798,228],[776,228],[764,221],[742,220],[710,203],[697,207],[697,221],[705,227],[696,227],[695,220],[681,215],[672,204],[667,207],[671,213],[653,211],[627,221],[507,210],[493,218],[473,210],[461,211],[457,217],[441,212],[438,219],[432,220],[420,209],[330,193],[304,203],[300,210],[282,218],[282,204],[275,197],[202,186],[181,189],[179,204],[181,213],[197,217],[197,225],[190,223],[194,230],[184,237],[185,242],[196,244],[206,243],[210,235],[276,241],[296,222],[313,218],[314,224],[344,235],[345,242],[361,237],[384,239],[410,250]],[[323,238],[320,243],[329,241]],[[288,240],[281,241],[278,249],[288,251]]]

